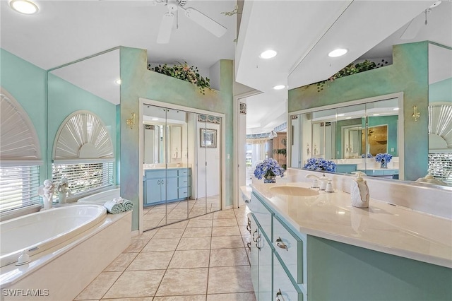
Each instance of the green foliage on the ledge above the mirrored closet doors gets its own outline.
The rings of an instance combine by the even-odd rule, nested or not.
[[[151,67],[148,65],[148,70],[155,71],[158,73],[165,74],[167,76],[172,76],[174,78],[182,79],[182,81],[188,81],[197,85],[199,91],[202,94],[206,94],[206,88],[210,89],[210,79],[203,78],[198,71],[198,67],[189,66],[189,64],[184,61],[184,64],[177,62],[179,65],[168,66],[167,64],[158,65]]]

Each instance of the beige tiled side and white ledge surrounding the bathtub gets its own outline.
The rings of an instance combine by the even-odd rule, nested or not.
[[[72,300],[130,242],[131,211],[108,214],[103,222],[93,228],[30,256],[29,264],[2,267],[1,300],[30,300],[30,296],[5,296],[4,289],[48,290],[48,296],[33,297],[33,300]]]

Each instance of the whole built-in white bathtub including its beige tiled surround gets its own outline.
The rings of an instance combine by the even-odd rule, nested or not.
[[[74,203],[0,223],[1,264],[11,262],[0,268],[1,301],[29,301],[11,295],[27,289],[47,292],[37,300],[76,298],[131,243],[131,213]],[[16,265],[24,249],[30,262]]]

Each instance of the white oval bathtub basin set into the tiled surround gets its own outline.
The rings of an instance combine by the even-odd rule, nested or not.
[[[20,216],[0,223],[0,266],[18,261],[70,240],[105,220],[107,211],[99,205],[74,205]]]

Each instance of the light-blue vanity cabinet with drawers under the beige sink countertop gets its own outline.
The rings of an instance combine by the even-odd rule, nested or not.
[[[336,241],[334,237],[341,239],[337,235],[303,233],[278,211],[282,206],[283,211],[297,212],[298,203],[280,200],[274,195],[266,199],[253,189],[247,203],[257,240],[256,247],[251,246],[251,275],[258,300],[452,300],[451,268]],[[305,203],[300,206],[309,210]],[[314,208],[305,217],[311,229],[307,231],[315,232],[319,223],[344,228],[321,214],[326,204],[316,206],[319,211]],[[270,244],[267,249],[266,244]],[[264,282],[268,277],[271,292],[269,282]]]

